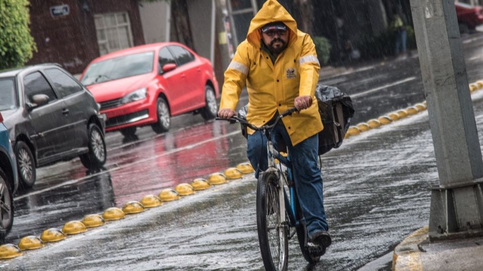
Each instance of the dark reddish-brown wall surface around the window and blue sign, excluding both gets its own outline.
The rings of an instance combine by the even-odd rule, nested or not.
[[[50,7],[57,5],[68,5],[69,15],[52,17]],[[38,52],[27,64],[56,62],[81,73],[99,56],[94,15],[111,12],[127,12],[134,46],[144,44],[138,0],[30,0],[30,29]]]

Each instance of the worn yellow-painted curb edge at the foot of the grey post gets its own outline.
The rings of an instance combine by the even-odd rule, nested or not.
[[[418,245],[428,238],[429,226],[421,228],[406,237],[395,248],[392,254],[393,271],[423,270],[421,250]]]

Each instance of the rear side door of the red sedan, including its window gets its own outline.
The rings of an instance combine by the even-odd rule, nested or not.
[[[205,86],[201,76],[201,61],[181,46],[171,45],[169,48],[182,73],[183,81],[180,87],[185,103],[184,110],[197,109],[200,107],[200,103],[204,102],[205,97]]]

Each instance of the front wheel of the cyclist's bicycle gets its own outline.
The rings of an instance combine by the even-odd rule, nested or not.
[[[287,270],[288,229],[280,222],[278,178],[261,173],[257,187],[257,228],[266,270]],[[285,214],[284,214],[285,215]]]

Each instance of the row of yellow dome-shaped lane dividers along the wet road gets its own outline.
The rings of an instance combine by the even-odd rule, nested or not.
[[[477,81],[469,85],[470,91],[474,92],[476,90],[483,88],[483,81]],[[406,110],[397,110],[396,112],[391,112],[386,116],[381,116],[377,119],[371,119],[368,123],[362,122],[357,124],[357,126],[349,127],[345,138],[355,137],[356,135],[368,131],[370,129],[379,128],[382,125],[390,124],[401,118],[406,118],[411,115],[417,114],[427,109],[426,101],[418,103]],[[360,128],[362,127],[362,129]],[[102,216],[99,214],[86,215],[82,221],[69,221],[64,224],[62,230],[57,228],[49,228],[42,232],[40,238],[29,235],[22,237],[18,243],[15,244],[3,244],[0,245],[0,259],[10,259],[23,255],[22,251],[38,249],[44,247],[47,242],[57,242],[65,239],[68,235],[78,234],[86,232],[91,227],[99,227],[105,224],[105,221],[119,220],[126,216],[127,214],[136,214],[143,212],[145,208],[154,208],[163,205],[163,202],[169,202],[178,200],[181,196],[187,196],[194,194],[195,190],[208,189],[212,185],[220,185],[227,183],[227,179],[238,179],[243,177],[243,174],[250,174],[255,172],[250,163],[241,163],[236,166],[236,168],[229,168],[224,171],[224,174],[213,173],[205,179],[195,179],[191,185],[190,184],[180,184],[174,189],[163,189],[158,196],[146,195],[138,201],[129,201],[122,209],[117,207],[111,207],[106,209]],[[397,257],[398,255],[394,255]]]

